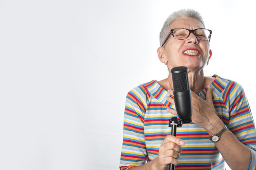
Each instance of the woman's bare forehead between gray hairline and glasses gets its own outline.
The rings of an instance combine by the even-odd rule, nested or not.
[[[190,17],[180,17],[175,19],[171,25],[171,29],[174,28],[186,28],[186,29],[197,29],[197,28],[204,28],[203,24],[196,18]]]

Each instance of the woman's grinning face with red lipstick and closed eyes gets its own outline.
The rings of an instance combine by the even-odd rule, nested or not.
[[[203,24],[190,17],[181,17],[175,19],[170,26],[170,30],[174,28],[186,28],[194,30],[204,28]],[[167,62],[169,70],[178,66],[185,66],[190,70],[198,70],[204,68],[207,64],[210,53],[209,41],[199,40],[191,33],[184,40],[177,40],[172,35],[165,42],[164,47],[159,47],[158,57],[161,62]]]

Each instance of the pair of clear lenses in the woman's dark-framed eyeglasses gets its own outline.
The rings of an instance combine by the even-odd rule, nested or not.
[[[186,39],[190,34],[189,30],[178,28],[173,30],[173,36],[179,40]],[[206,29],[197,29],[194,31],[194,35],[200,40],[207,40],[210,32]]]

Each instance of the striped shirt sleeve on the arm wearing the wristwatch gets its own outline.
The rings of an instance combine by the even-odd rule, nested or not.
[[[251,151],[250,163],[247,170],[256,170],[256,128],[247,97],[241,85],[231,82],[229,91],[228,128]]]

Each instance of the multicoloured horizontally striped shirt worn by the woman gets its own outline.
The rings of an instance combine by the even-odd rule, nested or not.
[[[213,87],[213,102],[218,117],[251,150],[248,170],[256,169],[256,129],[243,88],[236,82],[214,75],[215,80],[199,96],[206,99],[206,92]],[[172,116],[166,111],[174,105],[166,101],[169,94],[156,81],[139,85],[126,97],[123,147],[120,170],[129,170],[158,155]],[[194,123],[177,128],[177,136],[185,141],[175,170],[225,170],[225,161],[209,134]]]

